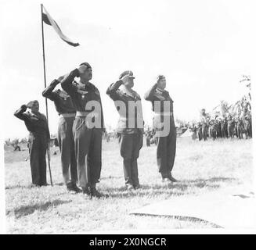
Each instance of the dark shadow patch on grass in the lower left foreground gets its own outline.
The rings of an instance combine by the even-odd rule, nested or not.
[[[16,219],[19,219],[22,216],[27,216],[30,215],[31,213],[34,213],[34,211],[46,211],[51,207],[55,207],[57,205],[65,204],[65,203],[70,203],[70,201],[61,201],[61,200],[55,200],[53,202],[45,202],[45,203],[39,203],[35,205],[23,205],[18,209],[14,210],[14,215]],[[8,214],[8,212],[7,212]]]

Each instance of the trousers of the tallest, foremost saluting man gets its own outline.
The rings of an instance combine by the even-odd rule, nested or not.
[[[95,187],[101,172],[102,129],[88,128],[84,116],[76,116],[73,125],[78,185]]]

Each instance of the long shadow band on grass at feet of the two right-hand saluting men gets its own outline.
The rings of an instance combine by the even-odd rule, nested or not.
[[[146,184],[138,190],[127,191],[126,187],[108,188],[109,195],[112,198],[128,198],[133,196],[157,196],[157,195],[186,195],[196,193],[196,188],[218,189],[220,182],[231,182],[237,180],[227,177],[212,177],[210,179],[181,180],[172,184]]]

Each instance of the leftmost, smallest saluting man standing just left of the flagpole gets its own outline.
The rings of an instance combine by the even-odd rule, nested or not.
[[[27,108],[31,112],[26,112]],[[46,186],[45,154],[50,141],[49,127],[45,115],[39,112],[38,101],[31,101],[17,109],[14,116],[23,120],[30,132],[29,152],[31,162],[32,184]]]

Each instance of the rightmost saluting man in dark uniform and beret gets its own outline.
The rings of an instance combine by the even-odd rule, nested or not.
[[[168,134],[166,136],[157,136],[157,165],[162,181],[171,183],[177,181],[171,174],[176,153],[176,127],[173,116],[173,101],[169,92],[165,90],[165,87],[166,79],[163,75],[160,75],[157,77],[157,84],[154,84],[153,87],[146,92],[144,98],[146,101],[152,102],[152,109],[155,112],[153,126],[156,133],[163,128],[159,126],[160,121],[164,120],[164,116],[168,117],[168,125],[170,125]],[[160,102],[160,110],[157,110],[156,101]],[[168,110],[164,110],[164,102],[168,104]],[[167,124],[164,123],[164,126],[165,125]]]

